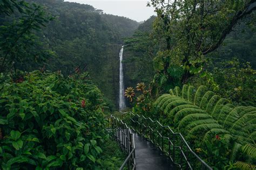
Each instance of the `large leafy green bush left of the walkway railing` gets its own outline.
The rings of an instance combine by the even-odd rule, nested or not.
[[[1,167],[100,169],[104,102],[86,74],[35,71],[19,80],[0,85]]]

